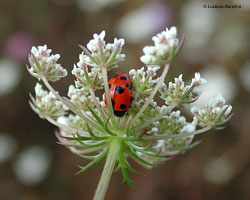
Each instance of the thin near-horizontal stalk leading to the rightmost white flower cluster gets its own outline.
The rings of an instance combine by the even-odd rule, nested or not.
[[[198,135],[201,133],[204,133],[206,131],[211,130],[211,126],[207,126],[205,128],[199,129],[197,131],[192,131],[192,132],[185,132],[185,133],[180,133],[180,134],[172,134],[172,135],[157,135],[157,136],[145,136],[143,138],[146,139],[152,139],[152,140],[167,140],[167,139],[173,139],[173,138],[180,138],[180,137],[188,137],[192,135]]]

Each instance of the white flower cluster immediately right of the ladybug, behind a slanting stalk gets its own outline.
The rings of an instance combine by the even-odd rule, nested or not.
[[[156,76],[158,69],[160,69],[159,66],[147,66],[146,71],[144,67],[138,70],[131,69],[129,71],[135,93],[140,99],[149,96],[154,89],[154,85],[158,82],[159,78],[153,79],[153,77]]]

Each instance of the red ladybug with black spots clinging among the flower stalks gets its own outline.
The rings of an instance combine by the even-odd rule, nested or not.
[[[125,72],[117,72],[114,77],[110,79],[109,93],[115,116],[123,117],[134,100],[133,83]],[[105,102],[108,107],[106,95]]]

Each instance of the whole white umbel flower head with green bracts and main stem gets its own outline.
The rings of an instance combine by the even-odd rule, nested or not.
[[[80,45],[83,51],[72,70],[75,83],[69,86],[68,97],[62,97],[50,85],[50,81],[65,77],[67,72],[57,63],[60,56],[51,55],[46,45],[32,47],[28,71],[49,90],[43,90],[37,83],[35,97],[31,96],[30,102],[33,110],[59,128],[56,135],[62,145],[90,160],[78,173],[107,158],[94,197],[99,200],[104,198],[116,164],[131,185],[129,172],[138,172],[130,166],[128,157],[147,168],[159,166],[194,147],[195,135],[222,128],[231,117],[232,106],[218,95],[204,108],[191,108],[193,121],[188,122],[182,115],[179,108],[190,108],[186,105],[199,98],[200,86],[206,80],[197,72],[189,84],[185,84],[182,74],[174,82],[165,83],[171,62],[184,41],[179,42],[176,27],[171,27],[152,38],[153,46],[144,47],[140,59],[145,65],[129,71],[133,101],[126,114],[117,117],[112,106],[117,103],[114,93],[119,95],[124,91],[119,83],[126,78],[118,77],[121,80],[116,81],[117,90],[108,83],[107,72],[125,60],[121,53],[124,39],[115,38],[113,43],[106,43],[104,31],[93,37],[87,48]],[[160,68],[162,74],[157,76]],[[96,96],[99,90],[105,93],[102,98]],[[164,100],[163,105],[154,101],[157,94]]]

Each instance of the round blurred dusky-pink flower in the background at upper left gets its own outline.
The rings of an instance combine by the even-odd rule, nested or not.
[[[26,60],[33,41],[34,37],[28,32],[13,33],[5,42],[4,53],[17,61]]]

